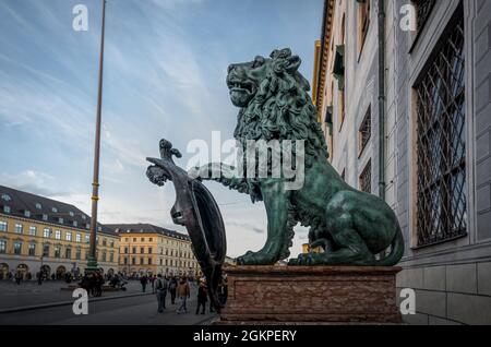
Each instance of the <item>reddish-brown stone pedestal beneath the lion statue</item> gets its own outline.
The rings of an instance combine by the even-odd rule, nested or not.
[[[400,323],[395,288],[400,270],[229,266],[220,323]]]

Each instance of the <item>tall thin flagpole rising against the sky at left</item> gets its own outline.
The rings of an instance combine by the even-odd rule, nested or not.
[[[92,216],[91,216],[91,248],[87,260],[87,271],[97,267],[97,202],[99,200],[99,158],[100,158],[100,122],[103,109],[103,68],[104,68],[104,36],[106,29],[106,0],[103,0],[103,28],[100,32],[99,75],[97,91],[97,116],[94,145],[94,178],[92,182]]]

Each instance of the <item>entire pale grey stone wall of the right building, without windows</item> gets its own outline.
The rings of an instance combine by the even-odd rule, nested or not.
[[[372,158],[372,193],[379,182],[378,123],[378,0],[372,0],[371,24],[361,56],[357,53],[356,1],[336,0],[334,34],[346,15],[346,118],[336,124],[334,103],[333,166],[359,188],[364,163]],[[466,172],[467,236],[416,248],[416,141],[414,85],[459,5],[436,1],[422,32],[404,32],[400,9],[409,0],[386,0],[386,202],[396,211],[406,250],[397,287],[416,290],[417,324],[491,323],[491,1],[462,0],[466,46]],[[331,72],[328,72],[331,73]],[[372,136],[361,156],[358,128],[372,106]],[[340,131],[339,131],[340,129]]]

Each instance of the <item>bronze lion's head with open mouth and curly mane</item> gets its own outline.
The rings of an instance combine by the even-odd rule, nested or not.
[[[301,59],[286,48],[270,58],[230,64],[227,85],[240,107],[235,137],[243,140],[306,140],[306,158],[327,157],[309,82],[298,71]],[[309,163],[307,163],[309,166]]]

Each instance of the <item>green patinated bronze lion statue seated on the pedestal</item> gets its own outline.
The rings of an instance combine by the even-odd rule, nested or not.
[[[311,248],[322,247],[324,252],[301,254],[290,265],[395,265],[404,252],[397,217],[383,200],[351,188],[330,165],[309,82],[298,71],[300,63],[298,56],[283,49],[228,70],[230,98],[240,108],[235,131],[239,143],[304,140],[306,144],[306,180],[300,190],[285,190],[285,179],[209,178],[250,194],[252,202],[263,201],[266,207],[266,243],[239,256],[237,263],[270,265],[288,258],[294,227],[300,223],[310,227]],[[375,258],[388,247],[388,255]]]

